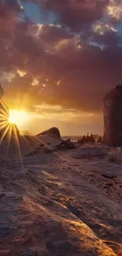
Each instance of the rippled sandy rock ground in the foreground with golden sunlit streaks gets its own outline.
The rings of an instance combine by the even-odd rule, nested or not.
[[[72,150],[0,168],[0,255],[122,255],[122,165]]]

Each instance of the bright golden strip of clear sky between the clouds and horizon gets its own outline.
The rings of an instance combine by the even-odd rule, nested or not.
[[[60,106],[39,106],[36,113],[10,109],[9,121],[16,123],[20,132],[29,131],[31,134],[38,134],[55,126],[60,128],[61,135],[83,135],[86,132],[102,134],[102,113],[99,115],[76,112],[73,109],[62,109]]]

